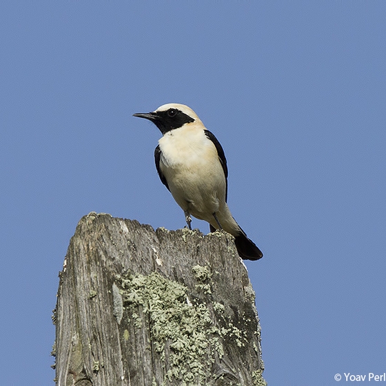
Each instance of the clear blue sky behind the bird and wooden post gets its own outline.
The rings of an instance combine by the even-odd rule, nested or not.
[[[265,254],[247,267],[268,383],[386,372],[385,1],[2,0],[0,74],[1,385],[54,384],[81,216],[185,225],[132,117],[169,102],[222,143]]]

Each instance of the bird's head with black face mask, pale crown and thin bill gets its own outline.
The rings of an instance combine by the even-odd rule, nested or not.
[[[149,119],[159,128],[162,134],[182,128],[183,125],[189,125],[193,122],[202,125],[199,116],[187,105],[181,105],[180,103],[167,103],[154,112],[139,112],[133,115]]]

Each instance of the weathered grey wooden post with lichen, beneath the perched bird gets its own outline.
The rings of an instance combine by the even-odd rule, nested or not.
[[[84,216],[56,327],[59,386],[266,384],[254,290],[223,232]]]

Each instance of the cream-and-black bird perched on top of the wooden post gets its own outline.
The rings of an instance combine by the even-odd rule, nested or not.
[[[234,236],[241,258],[262,258],[261,250],[230,212],[225,152],[199,116],[181,103],[167,103],[154,112],[139,112],[133,116],[152,121],[163,134],[154,151],[156,170],[183,210],[187,227],[192,229],[191,216],[207,221],[210,232],[224,230]]]

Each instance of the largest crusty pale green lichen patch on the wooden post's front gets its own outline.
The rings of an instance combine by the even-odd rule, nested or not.
[[[208,272],[204,276],[209,277]],[[188,302],[185,285],[156,272],[122,277],[121,285],[123,303],[131,310],[135,327],[142,325],[138,307],[148,315],[151,345],[161,360],[165,360],[168,343],[165,381],[176,378],[186,386],[208,381],[207,366],[214,363],[215,355],[223,356],[223,347],[207,305]]]

